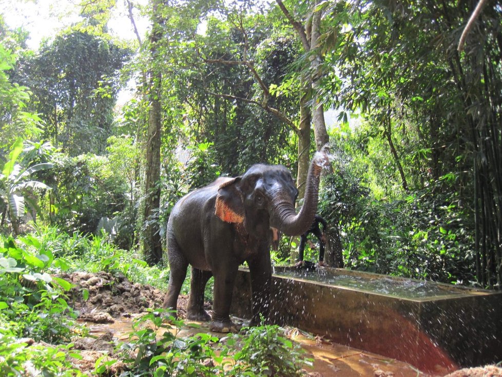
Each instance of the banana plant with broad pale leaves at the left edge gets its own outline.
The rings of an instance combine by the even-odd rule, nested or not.
[[[18,218],[25,212],[26,195],[33,189],[50,189],[45,183],[31,180],[30,176],[34,172],[50,169],[54,166],[51,163],[40,163],[28,167],[23,166],[20,160],[23,149],[23,140],[18,138],[12,145],[9,158],[4,163],[2,173],[0,173],[0,200],[5,203],[2,224],[7,215],[10,219],[14,236],[19,233]]]

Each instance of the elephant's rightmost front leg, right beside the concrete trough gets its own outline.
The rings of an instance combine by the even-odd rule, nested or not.
[[[272,289],[272,264],[270,262],[270,252],[268,249],[261,250],[254,258],[247,261],[249,273],[251,275],[251,325],[256,326],[261,322],[261,317],[265,322],[270,321],[270,295]]]

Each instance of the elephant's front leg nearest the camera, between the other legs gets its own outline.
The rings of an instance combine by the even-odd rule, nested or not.
[[[216,271],[213,270],[215,288],[213,292],[213,318],[209,325],[211,331],[239,331],[238,326],[230,320],[230,305],[238,269],[237,263],[232,263],[232,266],[219,266]]]

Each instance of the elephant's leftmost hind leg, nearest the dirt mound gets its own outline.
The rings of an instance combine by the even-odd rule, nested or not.
[[[169,285],[164,299],[164,308],[177,310],[178,296],[185,281],[188,261],[172,235],[167,236],[167,255],[169,259]]]

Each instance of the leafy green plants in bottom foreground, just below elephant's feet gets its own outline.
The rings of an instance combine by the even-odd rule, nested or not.
[[[182,326],[167,311],[150,310],[139,318],[130,341],[120,346],[129,368],[123,375],[289,377],[302,375],[302,366],[312,365],[278,326],[245,328],[221,340],[206,333],[180,336]],[[99,364],[95,371],[103,373],[108,366]]]

